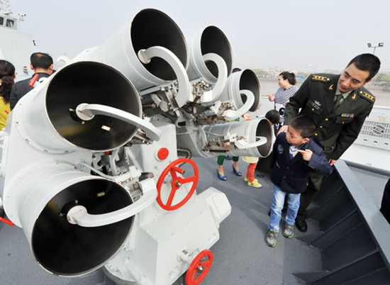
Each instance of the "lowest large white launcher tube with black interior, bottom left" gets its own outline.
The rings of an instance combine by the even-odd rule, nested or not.
[[[121,250],[133,225],[133,217],[94,228],[69,223],[67,211],[78,204],[104,214],[133,203],[121,185],[71,165],[36,164],[9,187],[9,217],[23,228],[37,262],[53,274],[77,276],[106,264]]]

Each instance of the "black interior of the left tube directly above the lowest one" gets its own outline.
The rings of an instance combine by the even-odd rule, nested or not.
[[[82,103],[111,106],[140,117],[138,92],[116,69],[98,62],[60,69],[48,86],[46,108],[58,133],[84,149],[112,150],[133,138],[137,127],[110,116],[98,115],[84,124],[74,120],[69,109]]]

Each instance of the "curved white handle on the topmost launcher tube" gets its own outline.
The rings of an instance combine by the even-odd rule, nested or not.
[[[179,58],[165,47],[155,46],[149,47],[147,50],[138,51],[138,58],[145,64],[148,64],[153,57],[160,57],[162,60],[165,60],[170,67],[172,67],[177,78],[177,83],[179,84],[179,91],[174,99],[176,100],[177,106],[181,108],[189,101],[191,94],[186,69],[182,65],[182,62],[180,62]]]

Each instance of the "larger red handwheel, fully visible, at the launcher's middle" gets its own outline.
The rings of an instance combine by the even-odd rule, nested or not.
[[[192,168],[194,169],[194,176],[193,177],[178,177],[177,172],[180,174],[184,173],[184,169],[181,169],[177,167],[177,164],[182,164],[183,162],[188,162],[189,164],[192,165]],[[172,189],[169,193],[169,197],[167,199],[167,202],[164,203],[161,200],[161,186],[162,183],[164,182],[165,177],[167,174],[170,173],[172,176]],[[183,206],[186,201],[188,201],[192,194],[194,194],[194,191],[196,189],[196,184],[198,184],[198,179],[199,179],[199,172],[198,172],[198,167],[196,166],[196,163],[193,160],[189,160],[188,158],[179,158],[178,160],[174,160],[174,162],[171,162],[161,173],[158,181],[157,181],[157,203],[163,208],[164,210],[167,211],[174,211]],[[176,191],[182,186],[183,184],[186,183],[191,183],[192,186],[191,189],[189,190],[189,193],[184,197],[182,201],[179,203],[172,205],[172,201],[174,199],[174,195],[176,194]]]

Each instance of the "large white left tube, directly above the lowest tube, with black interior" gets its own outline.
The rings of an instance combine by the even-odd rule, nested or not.
[[[45,152],[113,150],[135,135],[137,126],[112,116],[80,120],[75,109],[83,103],[141,116],[138,92],[123,74],[98,62],[76,62],[23,96],[12,119],[25,141]]]

